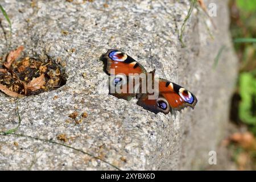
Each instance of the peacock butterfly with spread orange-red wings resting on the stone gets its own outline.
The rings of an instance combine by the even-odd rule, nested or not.
[[[144,109],[164,114],[171,109],[180,111],[196,105],[196,97],[187,89],[163,78],[155,78],[155,69],[147,72],[122,51],[109,49],[101,60],[104,61],[104,71],[109,75],[109,94],[117,98],[129,101],[136,97],[137,104]]]

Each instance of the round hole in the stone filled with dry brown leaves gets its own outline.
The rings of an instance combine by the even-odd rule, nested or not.
[[[65,83],[63,68],[50,58],[41,60],[25,56],[7,67],[5,62],[0,65],[1,91],[9,89],[5,92],[9,96],[14,97],[14,93],[31,96],[58,89]]]

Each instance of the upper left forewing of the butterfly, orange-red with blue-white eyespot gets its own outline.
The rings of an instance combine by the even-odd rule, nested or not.
[[[129,75],[129,73],[146,73],[146,69],[142,67],[132,57],[126,55],[117,49],[109,49],[105,55],[102,56],[104,61],[104,71],[108,75],[117,75],[123,73]]]

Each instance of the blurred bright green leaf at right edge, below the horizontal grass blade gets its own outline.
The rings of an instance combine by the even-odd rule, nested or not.
[[[240,119],[253,127],[256,126],[256,78],[253,73],[240,74],[241,103]]]

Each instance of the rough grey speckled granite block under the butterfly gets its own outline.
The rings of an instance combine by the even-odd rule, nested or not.
[[[67,76],[67,84],[57,90],[19,99],[22,121],[16,134],[60,143],[64,142],[57,135],[66,134],[65,144],[120,169],[209,166],[208,152],[216,150],[228,122],[237,73],[227,1],[205,1],[217,5],[216,30],[200,8],[193,10],[185,26],[185,48],[178,34],[188,0],[108,1],[108,5],[98,0],[42,2],[1,1],[13,23],[11,48],[24,45],[26,55],[51,57]],[[2,27],[0,55],[6,52],[5,35],[9,39],[5,20]],[[225,49],[213,69],[222,46]],[[157,75],[191,90],[199,100],[195,109],[154,114],[135,100],[106,94],[106,74],[99,57],[109,48],[128,53],[148,71],[152,48]],[[14,98],[0,93],[0,130],[18,125],[15,104]],[[68,117],[74,111],[86,112],[88,117],[75,125]],[[72,148],[13,135],[0,136],[0,161],[0,169],[115,169]]]

